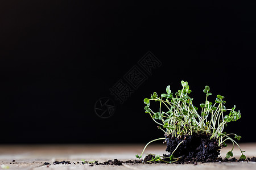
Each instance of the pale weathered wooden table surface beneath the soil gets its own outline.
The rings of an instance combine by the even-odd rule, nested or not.
[[[256,143],[241,143],[242,150],[246,150],[246,157],[256,157]],[[109,159],[134,160],[136,154],[141,154],[144,144],[113,144],[113,145],[0,145],[0,165],[9,169],[256,169],[256,162],[238,162],[238,163],[198,163],[193,164],[124,164],[123,166],[113,165],[94,165],[89,164],[71,164],[71,165],[53,165],[52,163],[62,160],[72,162],[81,162],[81,159],[88,161],[98,160],[105,162]],[[154,153],[162,155],[165,152],[166,145],[151,144],[147,147],[145,153]],[[229,145],[221,150],[221,157],[225,158],[226,152],[231,148]],[[234,148],[234,157],[240,157],[238,147]],[[13,160],[15,162],[13,163]],[[52,165],[42,166],[44,162]],[[1,167],[0,167],[1,169]]]

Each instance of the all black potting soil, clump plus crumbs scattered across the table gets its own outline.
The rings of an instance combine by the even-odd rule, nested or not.
[[[222,159],[218,157],[220,155],[220,150],[222,146],[218,146],[218,141],[216,139],[210,139],[210,135],[206,134],[195,134],[195,135],[185,135],[179,138],[166,137],[167,148],[166,151],[170,154],[163,154],[163,160],[166,162],[170,162],[170,156],[172,152],[174,152],[174,158],[172,161],[176,160],[176,164],[184,164],[184,163],[193,163],[197,164],[197,162],[207,163],[207,162],[256,162],[256,158],[247,158],[245,160],[238,160],[236,158],[231,159]],[[178,146],[179,145],[179,146]],[[177,147],[178,146],[178,147]],[[175,151],[174,151],[175,150]],[[123,164],[156,164],[156,163],[166,163],[163,161],[153,162],[154,155],[147,155],[145,158],[137,159],[137,160],[126,160],[121,161],[118,159],[108,160],[106,162],[100,163],[95,161],[93,163],[89,162],[81,162],[81,164],[90,164],[93,165],[123,165]],[[71,164],[69,161],[61,161],[61,162],[53,162],[53,164]],[[80,164],[72,163],[72,164]],[[44,163],[43,165],[50,165],[49,163]]]

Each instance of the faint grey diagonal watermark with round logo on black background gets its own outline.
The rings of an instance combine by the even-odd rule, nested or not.
[[[160,66],[162,62],[154,54],[147,52],[136,65],[114,83],[114,86],[109,88],[110,95],[114,96],[119,104],[123,104],[148,79],[148,76],[152,75],[152,70]],[[96,101],[94,111],[101,118],[109,118],[115,112],[114,101],[110,97],[102,97]]]

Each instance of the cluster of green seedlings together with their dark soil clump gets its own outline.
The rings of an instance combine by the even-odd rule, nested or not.
[[[166,151],[169,155],[163,156],[154,155],[147,162],[188,162],[198,161],[205,162],[207,160],[218,159],[220,150],[226,147],[226,141],[233,143],[232,150],[226,154],[226,158],[233,156],[234,145],[240,146],[234,140],[240,140],[241,136],[223,132],[225,126],[229,122],[237,121],[241,118],[240,111],[235,111],[236,105],[228,109],[225,107],[226,101],[224,96],[217,95],[216,100],[212,103],[208,97],[210,87],[205,86],[205,102],[200,104],[200,108],[193,105],[193,99],[189,97],[191,90],[188,82],[181,81],[182,89],[175,94],[171,91],[170,86],[166,88],[166,94],[158,96],[156,92],[151,95],[151,98],[144,99],[146,107],[145,112],[150,114],[153,121],[158,124],[158,129],[163,131],[164,138],[154,139],[147,143],[142,154],[136,155],[141,158],[144,150],[151,142],[164,140],[167,143]],[[159,110],[153,111],[151,107],[152,101],[159,103]],[[233,137],[233,138],[232,138]],[[245,160],[241,148],[240,160]]]

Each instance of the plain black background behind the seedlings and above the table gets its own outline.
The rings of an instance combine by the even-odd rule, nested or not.
[[[242,118],[225,131],[256,142],[255,3],[1,1],[1,143],[148,142],[163,137],[143,99],[188,81]],[[151,51],[162,65],[123,104],[109,88]],[[112,117],[94,112],[100,97]]]

